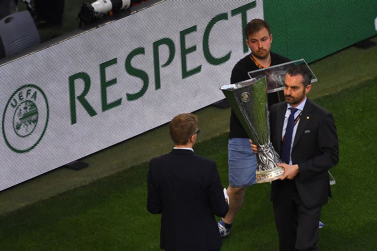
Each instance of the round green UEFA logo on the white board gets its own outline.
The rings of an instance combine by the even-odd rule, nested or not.
[[[35,85],[18,88],[9,98],[2,116],[2,134],[7,146],[18,153],[33,149],[45,134],[49,105]]]

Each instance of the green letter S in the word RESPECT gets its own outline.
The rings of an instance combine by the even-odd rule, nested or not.
[[[145,54],[145,49],[142,48],[142,47],[139,47],[139,48],[136,48],[135,50],[132,50],[126,58],[125,69],[126,69],[127,73],[132,75],[132,76],[136,76],[136,77],[140,78],[141,80],[143,80],[143,87],[140,89],[140,91],[138,91],[134,94],[127,93],[126,94],[127,100],[132,101],[132,100],[137,100],[137,99],[141,98],[148,89],[148,85],[149,85],[148,74],[146,72],[144,72],[143,70],[137,69],[137,68],[135,68],[131,65],[131,60],[135,56],[144,55],[144,54]]]

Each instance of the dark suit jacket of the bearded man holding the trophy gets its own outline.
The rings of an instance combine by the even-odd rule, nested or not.
[[[272,145],[279,155],[286,110],[287,103],[281,102],[272,105],[269,114]],[[339,161],[338,136],[332,114],[309,99],[297,125],[291,158],[293,165],[298,164],[294,181],[303,204],[315,208],[327,203],[331,197],[328,169]],[[271,201],[278,189],[284,189],[284,182],[272,181]]]

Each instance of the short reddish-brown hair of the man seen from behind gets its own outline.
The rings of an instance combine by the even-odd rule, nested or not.
[[[175,116],[169,123],[170,137],[175,145],[186,145],[197,130],[198,117],[192,113]]]

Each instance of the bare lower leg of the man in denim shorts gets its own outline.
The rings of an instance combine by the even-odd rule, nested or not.
[[[245,196],[246,187],[238,188],[229,186],[226,193],[229,196],[229,211],[222,221],[226,224],[232,224],[238,211],[240,211]]]

